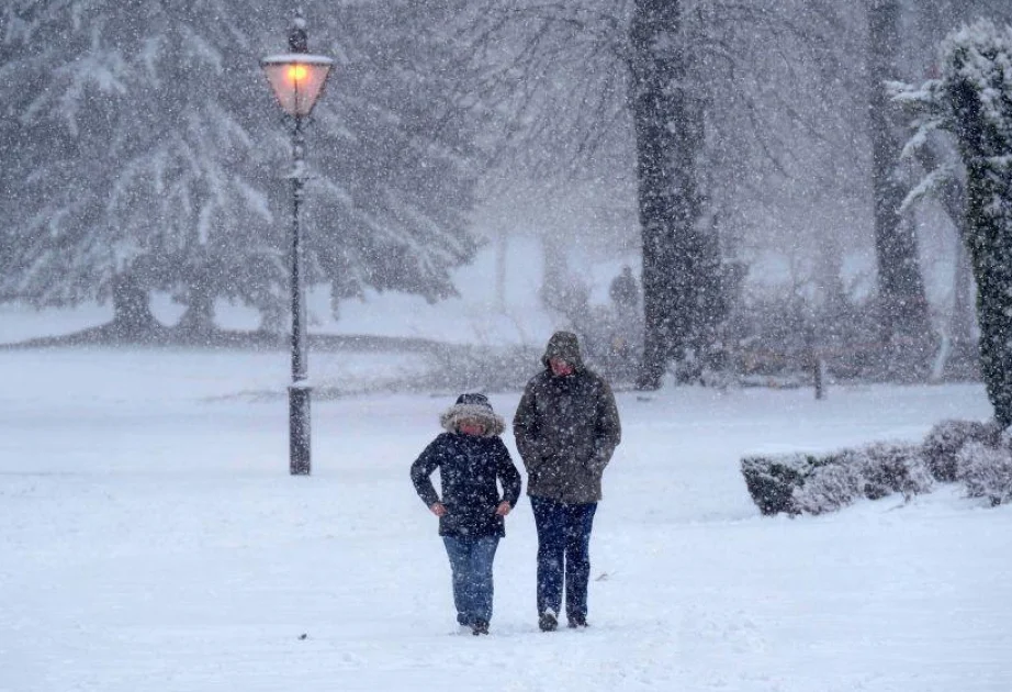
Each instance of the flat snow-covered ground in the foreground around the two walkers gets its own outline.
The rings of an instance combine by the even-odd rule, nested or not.
[[[619,394],[592,627],[537,630],[524,501],[476,639],[407,478],[457,392],[315,402],[291,478],[285,376],[283,354],[0,351],[0,690],[1012,689],[1012,509],[942,489],[763,518],[738,471],[983,418],[979,387]]]

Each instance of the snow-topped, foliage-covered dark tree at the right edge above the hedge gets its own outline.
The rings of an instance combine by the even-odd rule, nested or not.
[[[919,147],[951,132],[966,167],[967,245],[977,280],[980,366],[994,417],[1012,425],[1012,26],[980,20],[943,43],[942,76],[893,85]]]

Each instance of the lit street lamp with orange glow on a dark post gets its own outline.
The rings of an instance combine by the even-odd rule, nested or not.
[[[308,116],[323,91],[334,60],[310,55],[305,20],[296,11],[289,33],[289,53],[260,60],[274,96],[285,113],[292,116],[292,384],[289,387],[289,471],[292,476],[308,476],[310,462],[310,391],[306,379],[306,308],[303,287],[304,248],[300,237],[299,211],[306,180],[303,158],[305,138],[302,121]]]

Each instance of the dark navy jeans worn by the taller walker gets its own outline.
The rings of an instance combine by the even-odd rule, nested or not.
[[[597,503],[564,504],[532,496],[530,506],[538,528],[538,614],[562,612],[564,580],[566,616],[586,617],[591,529]]]

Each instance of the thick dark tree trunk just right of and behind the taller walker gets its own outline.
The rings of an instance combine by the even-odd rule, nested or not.
[[[702,304],[705,238],[696,156],[700,105],[688,85],[678,0],[636,0],[630,26],[631,110],[643,236],[643,357],[637,387],[655,390],[673,357],[691,343]]]

